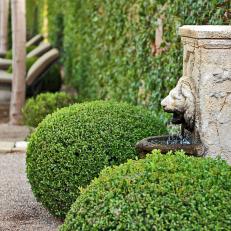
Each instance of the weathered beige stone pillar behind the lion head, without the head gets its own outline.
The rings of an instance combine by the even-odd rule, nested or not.
[[[183,26],[183,76],[195,86],[194,137],[231,164],[231,26]]]

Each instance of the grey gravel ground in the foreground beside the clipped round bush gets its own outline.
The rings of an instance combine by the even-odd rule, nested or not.
[[[0,155],[0,231],[55,231],[59,225],[32,195],[25,154]]]

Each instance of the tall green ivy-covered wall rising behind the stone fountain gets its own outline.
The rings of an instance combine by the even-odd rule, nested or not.
[[[159,106],[182,73],[178,28],[230,24],[227,0],[47,0],[49,37],[63,46],[67,81],[84,99]],[[161,55],[151,54],[163,18]],[[61,45],[60,45],[61,44]]]

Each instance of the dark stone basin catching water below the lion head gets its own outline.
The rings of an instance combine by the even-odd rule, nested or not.
[[[174,142],[173,142],[174,141]],[[136,144],[136,150],[140,157],[145,157],[152,150],[159,149],[166,154],[169,151],[183,150],[185,154],[191,156],[203,156],[204,146],[201,143],[192,143],[191,140],[182,140],[179,136],[151,136],[144,138]]]

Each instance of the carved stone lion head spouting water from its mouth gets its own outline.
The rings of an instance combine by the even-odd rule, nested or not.
[[[182,76],[176,87],[162,100],[161,105],[164,111],[174,113],[175,116],[178,117],[176,123],[184,123],[185,128],[193,130],[195,122],[195,103],[194,82],[192,78]]]

